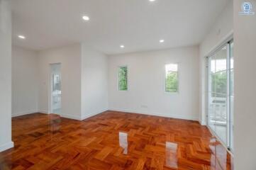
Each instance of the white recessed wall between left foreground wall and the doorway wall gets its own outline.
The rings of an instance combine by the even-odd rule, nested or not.
[[[12,116],[38,112],[38,53],[12,47]]]

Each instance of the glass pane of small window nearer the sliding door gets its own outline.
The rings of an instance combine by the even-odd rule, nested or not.
[[[178,64],[165,65],[165,91],[178,91]]]

